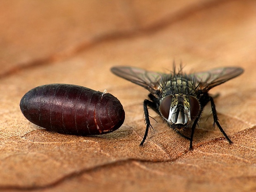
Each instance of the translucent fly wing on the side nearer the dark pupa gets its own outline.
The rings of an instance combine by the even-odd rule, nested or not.
[[[165,73],[146,71],[144,69],[129,66],[112,67],[111,71],[115,75],[140,85],[152,93],[157,90],[159,82],[167,76]]]

